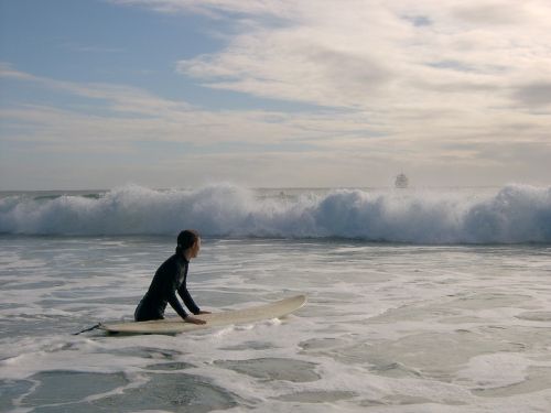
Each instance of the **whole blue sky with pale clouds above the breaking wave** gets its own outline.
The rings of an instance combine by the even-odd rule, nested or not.
[[[551,185],[548,0],[0,0],[0,191]]]

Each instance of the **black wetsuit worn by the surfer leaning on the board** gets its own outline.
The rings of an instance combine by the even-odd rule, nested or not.
[[[148,292],[136,308],[137,322],[164,318],[166,304],[170,304],[182,318],[187,317],[187,313],[177,300],[176,291],[193,314],[199,313],[199,307],[186,287],[188,264],[190,261],[184,257],[174,254],[159,267]]]

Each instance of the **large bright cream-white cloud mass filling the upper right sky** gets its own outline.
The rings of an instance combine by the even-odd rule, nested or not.
[[[444,148],[545,145],[551,122],[530,113],[550,96],[539,80],[551,70],[544,1],[279,2],[281,12],[257,10],[261,2],[208,7],[216,4],[245,13],[247,23],[236,23],[223,50],[181,61],[179,72],[212,88],[349,110],[365,130],[377,126],[387,137],[342,135],[356,153],[382,142],[425,159],[429,145],[434,159],[462,162],[479,152]],[[267,13],[279,20],[266,23]],[[493,162],[489,152],[476,160]]]

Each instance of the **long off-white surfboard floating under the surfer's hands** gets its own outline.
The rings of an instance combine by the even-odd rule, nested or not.
[[[130,322],[119,324],[100,324],[99,328],[109,333],[123,334],[180,334],[197,329],[247,324],[262,319],[279,318],[288,315],[306,303],[305,295],[296,295],[270,304],[257,305],[244,309],[233,309],[213,314],[201,314],[194,317],[204,319],[206,324],[185,323],[180,317],[156,319],[153,322]]]

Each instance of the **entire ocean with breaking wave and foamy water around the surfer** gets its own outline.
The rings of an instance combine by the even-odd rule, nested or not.
[[[202,308],[307,305],[73,335],[131,319],[183,228]],[[551,410],[550,188],[4,193],[0,289],[1,412]]]

